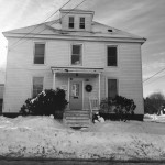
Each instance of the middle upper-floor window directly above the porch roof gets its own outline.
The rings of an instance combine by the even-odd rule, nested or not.
[[[81,65],[81,47],[82,45],[73,45],[72,65]]]

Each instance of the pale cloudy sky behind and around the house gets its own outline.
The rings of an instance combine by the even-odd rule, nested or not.
[[[67,1],[0,0],[0,75],[4,76],[8,46],[2,32],[42,23]],[[65,8],[81,1],[70,0]],[[142,45],[143,80],[165,68],[165,0],[86,0],[78,8],[95,11],[95,21],[147,38]],[[153,92],[165,95],[165,70],[143,82],[144,97]]]

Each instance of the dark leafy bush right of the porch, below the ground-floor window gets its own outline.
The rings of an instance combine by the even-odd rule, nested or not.
[[[128,99],[122,96],[116,96],[116,98],[106,98],[101,100],[100,112],[111,113],[114,112],[119,120],[127,121],[134,114],[136,105],[132,99]]]

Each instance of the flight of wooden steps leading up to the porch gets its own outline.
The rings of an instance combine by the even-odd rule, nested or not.
[[[68,110],[65,111],[65,124],[75,128],[75,127],[89,127],[90,118],[89,111],[85,110]]]

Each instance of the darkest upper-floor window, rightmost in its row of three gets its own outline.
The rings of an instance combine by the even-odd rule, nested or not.
[[[117,55],[118,47],[117,46],[108,46],[107,48],[107,65],[108,66],[117,66]]]

